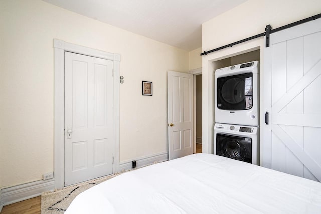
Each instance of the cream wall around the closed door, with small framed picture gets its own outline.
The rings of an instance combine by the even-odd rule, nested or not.
[[[37,0],[0,1],[0,29],[0,188],[53,171],[54,38],[121,54],[120,161],[168,150],[167,70],[187,51]]]

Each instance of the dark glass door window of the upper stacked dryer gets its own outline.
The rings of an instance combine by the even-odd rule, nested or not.
[[[217,107],[222,110],[252,108],[252,73],[217,78]]]

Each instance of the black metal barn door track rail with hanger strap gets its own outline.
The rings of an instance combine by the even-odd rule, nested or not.
[[[224,48],[232,47],[234,45],[237,45],[237,44],[240,44],[240,43],[243,43],[243,42],[258,38],[258,37],[263,37],[263,36],[266,36],[266,38],[265,38],[265,47],[270,47],[270,34],[273,34],[275,32],[278,32],[278,31],[281,31],[281,30],[284,30],[284,29],[287,29],[287,28],[291,28],[291,27],[296,26],[296,25],[300,25],[302,23],[306,23],[306,22],[309,22],[309,21],[312,21],[312,20],[316,20],[316,19],[319,19],[319,18],[321,18],[321,14],[317,14],[317,15],[314,15],[314,16],[311,16],[311,17],[308,17],[308,18],[305,18],[305,19],[290,23],[290,24],[281,26],[281,27],[276,28],[276,29],[272,29],[271,25],[267,25],[265,27],[265,32],[263,32],[263,33],[260,33],[260,34],[254,35],[252,37],[248,37],[248,38],[245,38],[243,40],[239,40],[237,42],[230,43],[228,45],[224,45],[224,46],[221,46],[221,47],[209,50],[209,51],[204,51],[203,53],[201,53],[201,56],[202,55],[207,55],[209,53],[212,53],[214,51],[218,51],[218,50],[221,50],[221,49],[224,49]]]

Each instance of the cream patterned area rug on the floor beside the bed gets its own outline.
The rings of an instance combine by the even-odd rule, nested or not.
[[[116,177],[119,174],[109,175],[84,183],[58,189],[53,192],[45,192],[41,195],[41,214],[60,214],[64,213],[71,201],[81,192],[98,185],[99,183]]]

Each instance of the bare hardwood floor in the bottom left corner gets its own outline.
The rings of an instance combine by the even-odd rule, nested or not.
[[[18,203],[13,203],[7,206],[4,206],[0,214],[38,214],[40,213],[40,198],[34,197],[28,200],[24,200]]]

